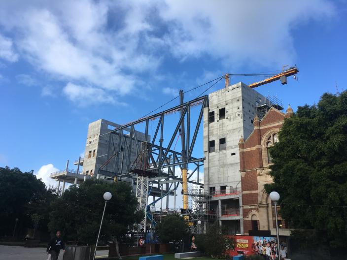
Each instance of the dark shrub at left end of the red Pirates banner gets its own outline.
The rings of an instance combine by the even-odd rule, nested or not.
[[[206,234],[200,234],[196,237],[198,251],[212,258],[230,259],[230,250],[235,249],[235,240],[227,237],[218,223],[208,228]]]

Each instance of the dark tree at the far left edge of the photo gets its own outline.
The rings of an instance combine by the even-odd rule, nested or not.
[[[23,173],[18,168],[0,167],[0,235],[12,235],[16,218],[19,233],[25,232],[27,227],[47,230],[54,192],[54,189],[46,189],[33,171]]]

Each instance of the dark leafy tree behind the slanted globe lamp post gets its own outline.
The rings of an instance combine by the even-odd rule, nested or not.
[[[61,230],[67,240],[95,244],[104,210],[105,192],[110,192],[112,198],[107,202],[101,239],[108,240],[111,236],[120,239],[128,226],[139,223],[143,215],[142,212],[135,213],[137,198],[124,182],[108,183],[90,179],[79,186],[70,186],[64,195],[52,203],[50,230]]]

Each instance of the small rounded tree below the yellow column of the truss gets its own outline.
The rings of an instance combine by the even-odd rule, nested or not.
[[[156,227],[156,232],[162,243],[179,242],[187,234],[188,228],[183,217],[173,214],[162,219]]]

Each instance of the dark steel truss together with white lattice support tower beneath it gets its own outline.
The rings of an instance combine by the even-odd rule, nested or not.
[[[196,124],[191,122],[192,106],[201,106]],[[108,143],[108,153],[106,162],[99,169],[99,174],[104,175],[106,179],[117,178],[122,180],[125,178],[131,180],[132,184],[136,180],[139,210],[144,210],[146,216],[139,231],[146,232],[147,218],[151,220],[150,214],[147,212],[151,204],[167,196],[166,208],[168,209],[169,195],[174,195],[179,182],[183,181],[175,172],[176,166],[179,166],[182,170],[182,165],[194,165],[192,172],[187,177],[187,182],[203,186],[203,184],[192,181],[190,178],[194,173],[197,173],[197,179],[199,180],[200,167],[204,165],[205,158],[194,158],[192,153],[203,119],[204,108],[207,106],[208,96],[195,98],[168,110],[123,125],[101,136],[106,140],[105,143]],[[175,128],[170,141],[167,147],[164,147],[164,123],[167,116],[175,112],[181,113],[178,120],[174,122]],[[153,136],[150,136],[148,134],[149,122],[153,122],[155,119],[159,120],[157,125],[154,126]],[[169,120],[170,123],[173,123],[172,118]],[[183,122],[184,124],[182,124]],[[145,124],[144,131],[140,132],[138,130],[139,124],[143,127],[143,123]],[[184,129],[182,129],[182,126]],[[190,134],[191,130],[193,130],[192,136]],[[181,135],[181,132],[185,132],[185,135]],[[182,142],[185,146],[183,151],[176,151],[175,147],[173,148],[177,134],[183,138]],[[165,172],[164,168],[166,168]],[[157,185],[157,187],[153,185]],[[148,204],[148,195],[158,198]],[[200,218],[202,216],[194,217],[193,220],[196,222]]]

